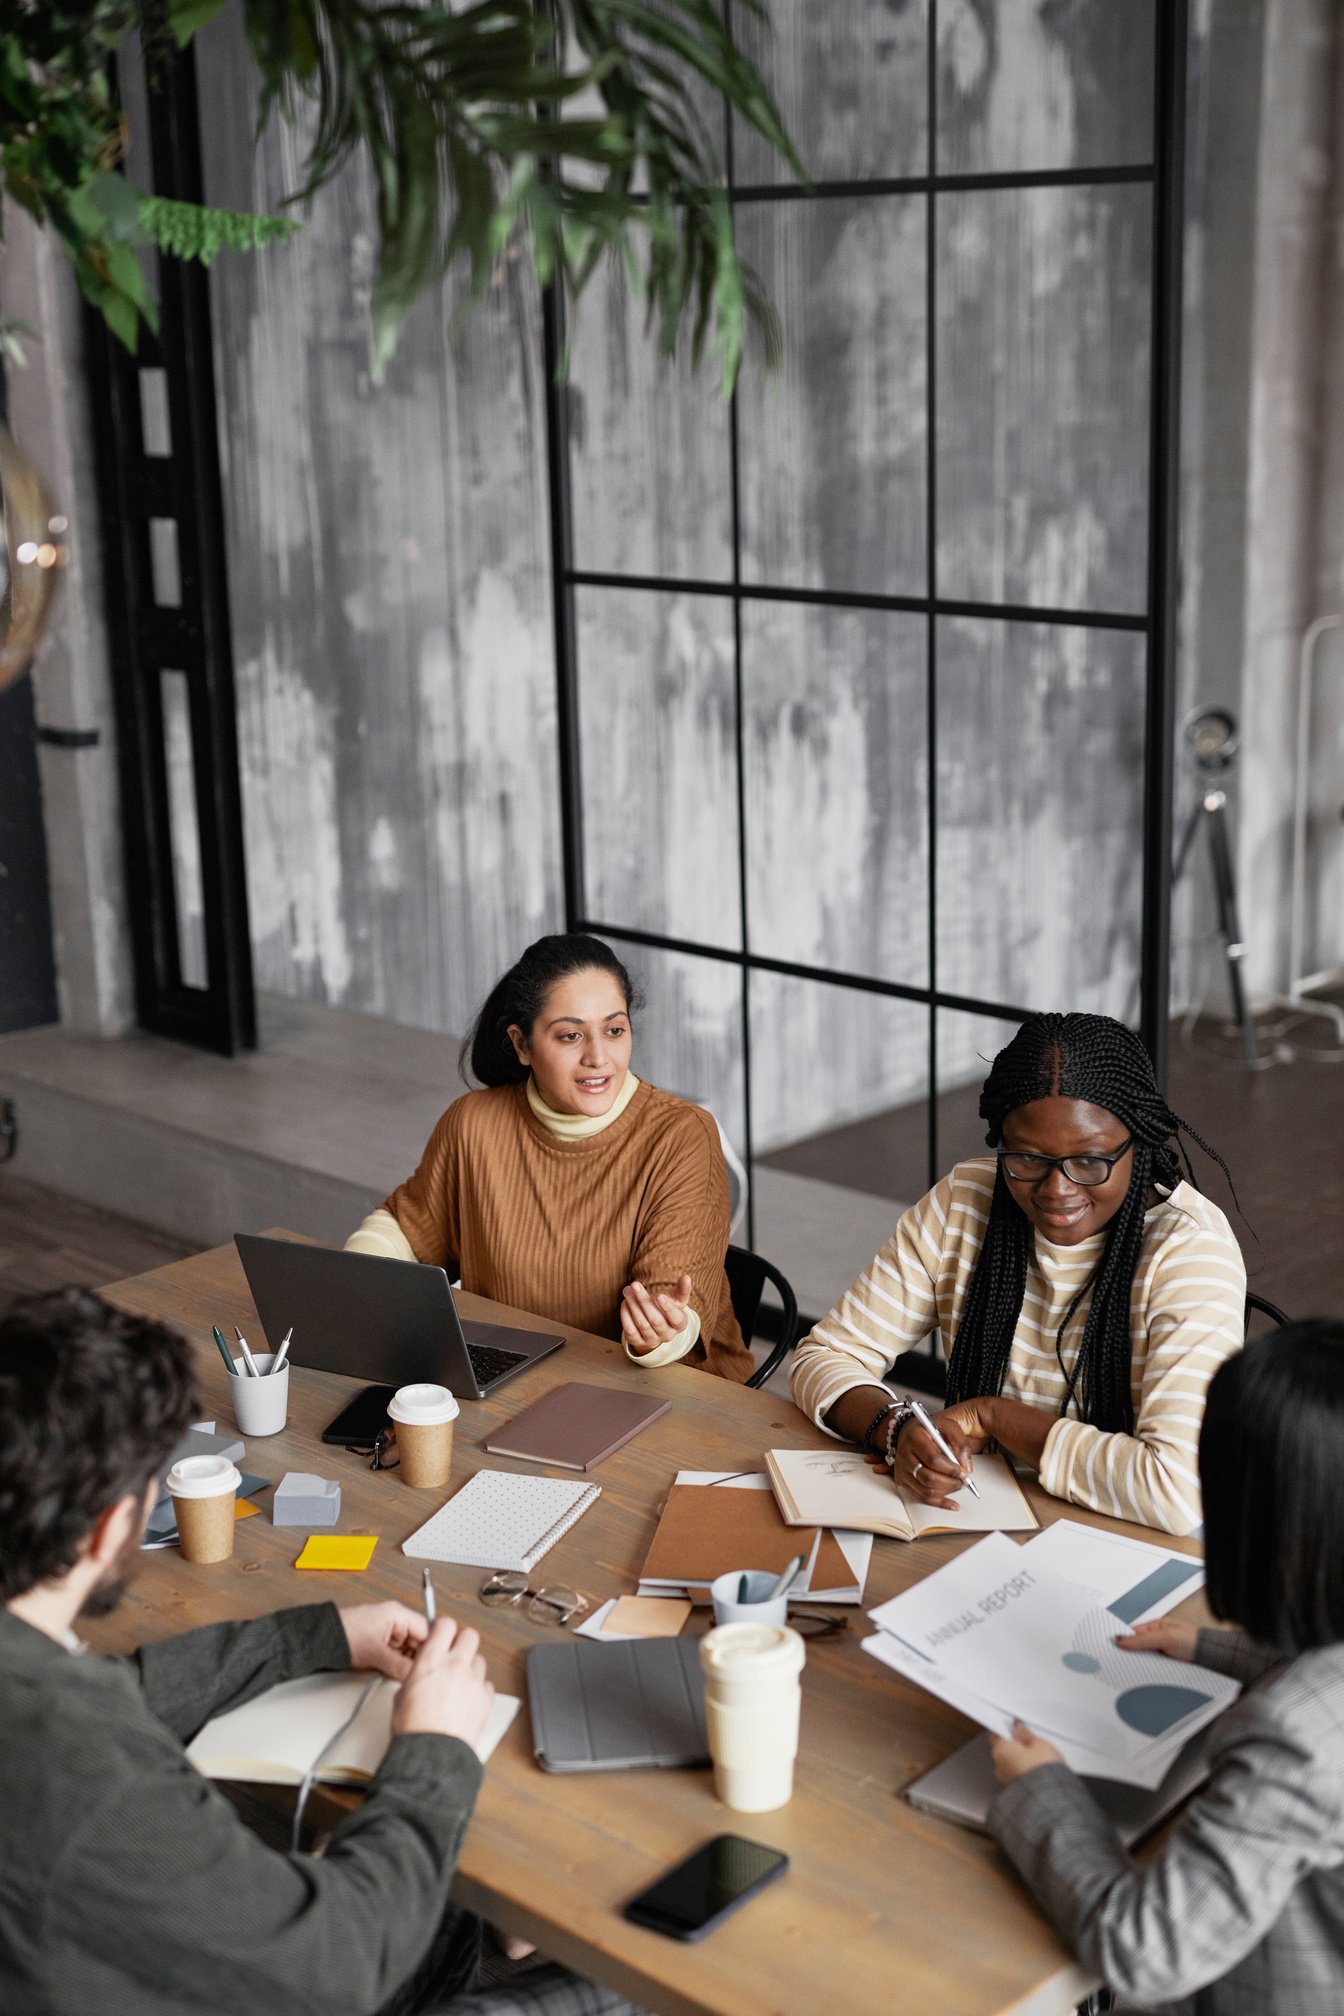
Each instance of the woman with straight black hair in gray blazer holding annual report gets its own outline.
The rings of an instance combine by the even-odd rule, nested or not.
[[[1078,1960],[1181,2016],[1344,2008],[1344,1325],[1247,1345],[1209,1387],[1199,1472],[1209,1607],[1120,1645],[1245,1681],[1213,1772],[1134,1863],[1058,1752],[995,1738],[989,1829]]]

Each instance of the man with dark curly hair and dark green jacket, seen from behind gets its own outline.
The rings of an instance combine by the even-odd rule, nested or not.
[[[187,1345],[69,1290],[0,1320],[0,2008],[6,2016],[411,2016],[627,2004],[560,1968],[461,1994],[449,1883],[492,1687],[476,1631],[401,1603],[206,1625],[77,1657],[193,1413]],[[339,1667],[401,1681],[393,1742],[324,1857],[278,1855],[183,1756],[216,1714]]]

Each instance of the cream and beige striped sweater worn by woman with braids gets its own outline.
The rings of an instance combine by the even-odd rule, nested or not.
[[[794,1357],[792,1391],[820,1427],[842,1393],[875,1385],[923,1337],[951,1351],[979,1256],[993,1161],[961,1161],[911,1206],[897,1230]],[[1003,1395],[1058,1411],[1064,1371],[1056,1333],[1106,1244],[1098,1232],[1054,1246],[1040,1232],[1028,1260],[1022,1314]],[[1084,1294],[1064,1337],[1072,1367],[1090,1306]],[[1197,1445],[1209,1379],[1245,1335],[1245,1264],[1215,1204],[1177,1183],[1145,1216],[1130,1294],[1134,1433],[1060,1419],[1046,1437],[1040,1482],[1056,1498],[1191,1532],[1201,1518]]]

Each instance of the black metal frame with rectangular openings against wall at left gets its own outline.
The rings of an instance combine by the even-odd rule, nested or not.
[[[195,60],[155,69],[149,149],[159,196],[201,200]],[[137,357],[87,319],[97,425],[105,595],[117,704],[121,823],[137,1020],[234,1054],[256,1046],[244,871],[238,722],[228,617],[224,500],[216,439],[210,290],[201,266],[159,260],[159,339]],[[171,456],[143,446],[139,369],[167,381]],[[149,520],[177,526],[181,603],[153,597]],[[161,673],[187,685],[195,782],[206,986],[183,980],[173,883]]]

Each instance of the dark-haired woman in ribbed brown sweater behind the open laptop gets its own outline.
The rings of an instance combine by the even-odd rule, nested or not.
[[[347,1250],[455,1260],[461,1284],[621,1337],[643,1365],[737,1383],[754,1361],[727,1294],[727,1171],[713,1119],[631,1070],[631,976],[598,937],[538,937],[469,1044],[415,1175]]]

